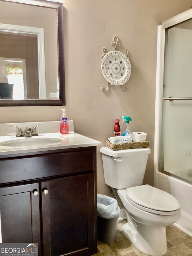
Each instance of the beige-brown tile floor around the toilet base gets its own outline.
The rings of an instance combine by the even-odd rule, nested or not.
[[[122,226],[126,221],[118,221],[116,232],[116,243],[107,245],[98,240],[98,251],[94,256],[146,256],[139,251],[123,234]],[[170,226],[166,228],[167,233],[167,253],[165,256],[192,256],[192,237],[176,228]],[[93,256],[93,255],[92,255]]]

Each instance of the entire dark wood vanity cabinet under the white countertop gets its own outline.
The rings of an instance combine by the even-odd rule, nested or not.
[[[38,243],[44,256],[96,253],[95,146],[1,158],[0,183],[3,243]]]

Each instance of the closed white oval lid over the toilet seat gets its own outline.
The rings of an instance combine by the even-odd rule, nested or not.
[[[170,212],[180,208],[178,200],[171,194],[149,185],[127,188],[126,196],[134,205],[157,211]]]

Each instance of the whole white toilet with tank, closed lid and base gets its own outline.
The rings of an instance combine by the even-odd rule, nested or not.
[[[113,151],[108,147],[102,153],[105,183],[116,188],[121,199],[127,223],[123,234],[142,252],[162,256],[167,252],[165,227],[181,217],[178,200],[171,194],[142,185],[149,148]]]

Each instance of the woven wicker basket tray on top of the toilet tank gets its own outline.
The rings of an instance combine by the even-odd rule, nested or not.
[[[106,146],[112,150],[147,148],[149,147],[149,140],[143,142],[129,142],[119,144],[113,144],[109,140],[106,140]]]

